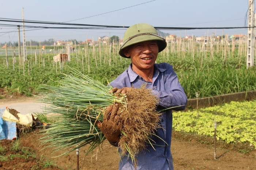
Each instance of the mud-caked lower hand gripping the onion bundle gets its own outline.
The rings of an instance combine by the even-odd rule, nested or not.
[[[121,124],[117,124],[117,120],[119,119],[119,115],[117,115],[118,108],[118,103],[114,104],[114,106],[108,106],[104,112],[102,123],[97,121],[98,128],[102,131],[106,139],[112,143],[117,143],[120,140]]]

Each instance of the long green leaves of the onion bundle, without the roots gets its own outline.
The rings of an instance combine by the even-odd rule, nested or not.
[[[79,71],[64,75],[59,85],[43,85],[39,88],[39,100],[46,104],[46,114],[50,114],[53,123],[43,130],[40,140],[53,152],[71,150],[90,144],[89,150],[99,146],[105,137],[98,129],[96,120],[102,122],[104,109],[115,103],[123,103],[124,96],[109,93],[111,87],[83,75]]]

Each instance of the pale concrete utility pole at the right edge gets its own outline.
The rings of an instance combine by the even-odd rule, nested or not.
[[[248,45],[247,45],[247,62],[246,68],[252,67],[254,64],[254,0],[248,0]]]

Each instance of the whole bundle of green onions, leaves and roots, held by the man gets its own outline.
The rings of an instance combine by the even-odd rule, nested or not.
[[[106,139],[97,127],[103,121],[103,113],[109,105],[119,103],[117,123],[121,124],[118,142],[120,155],[128,155],[136,166],[136,155],[150,143],[150,135],[159,127],[158,99],[146,86],[131,88],[125,95],[109,93],[112,87],[105,86],[87,75],[73,70],[57,81],[59,85],[39,88],[40,101],[46,104],[46,114],[51,114],[53,123],[43,130],[40,140],[45,148],[64,154],[89,144],[87,154]],[[65,151],[68,149],[68,151]]]

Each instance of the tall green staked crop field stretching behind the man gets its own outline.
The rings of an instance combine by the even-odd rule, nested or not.
[[[219,39],[207,43],[179,39],[168,42],[159,53],[157,63],[173,65],[188,98],[208,97],[233,92],[256,90],[256,67],[246,68],[246,40]],[[129,59],[118,55],[120,43],[97,42],[74,44],[74,50],[65,46],[27,49],[27,59],[14,57],[13,49],[0,50],[0,88],[10,93],[31,96],[44,83],[54,86],[75,68],[91,78],[108,84],[130,64]],[[70,52],[71,61],[54,62],[53,56]],[[21,52],[21,54],[23,54]],[[7,62],[8,60],[8,62]]]

